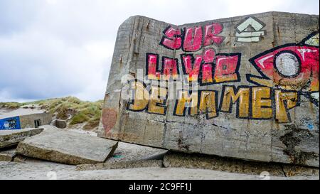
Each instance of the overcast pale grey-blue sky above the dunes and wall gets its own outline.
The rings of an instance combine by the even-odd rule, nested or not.
[[[0,0],[0,102],[103,99],[129,16],[183,24],[265,11],[319,14],[319,0]]]

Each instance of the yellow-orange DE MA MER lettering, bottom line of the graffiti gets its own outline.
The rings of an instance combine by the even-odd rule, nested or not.
[[[134,97],[127,109],[134,112],[166,115],[168,89],[151,87],[139,81],[131,83]],[[289,109],[299,105],[297,92],[272,90],[270,87],[223,85],[220,104],[218,91],[179,90],[174,112],[178,117],[206,114],[206,119],[218,117],[218,112],[231,113],[236,104],[236,117],[239,119],[272,119],[279,123],[291,122]],[[274,114],[275,113],[275,114]]]

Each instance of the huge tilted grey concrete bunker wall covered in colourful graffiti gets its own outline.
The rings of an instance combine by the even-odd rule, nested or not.
[[[268,12],[182,26],[128,18],[99,136],[319,166],[319,16]]]

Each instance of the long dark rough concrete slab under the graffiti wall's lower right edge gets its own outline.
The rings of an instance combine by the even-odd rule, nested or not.
[[[270,173],[270,176],[319,176],[319,168],[293,166],[282,163],[242,161],[235,158],[172,151],[169,151],[164,156],[164,167],[201,168],[252,175],[260,175],[262,172],[267,172]]]

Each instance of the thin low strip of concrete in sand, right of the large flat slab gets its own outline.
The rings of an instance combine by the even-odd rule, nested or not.
[[[114,161],[108,163],[97,164],[81,164],[76,167],[77,171],[94,171],[107,169],[123,169],[123,168],[149,168],[163,167],[162,160],[144,160],[144,161]]]

